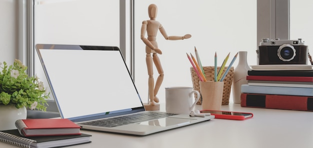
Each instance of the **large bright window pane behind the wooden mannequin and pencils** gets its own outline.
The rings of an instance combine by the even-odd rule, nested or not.
[[[214,65],[215,52],[220,66],[229,52],[231,60],[238,51],[247,51],[248,64],[256,65],[256,0],[135,0],[134,76],[143,102],[148,100],[148,73],[140,28],[142,21],[149,19],[148,5],[151,3],[157,5],[156,20],[162,24],[168,36],[192,35],[184,40],[165,40],[159,31],[156,35],[158,48],[162,51],[158,57],[164,72],[157,94],[160,102],[165,102],[165,87],[192,87],[191,64],[186,53],[194,55],[194,47],[202,66]],[[154,65],[153,77],[156,82],[158,72]]]

